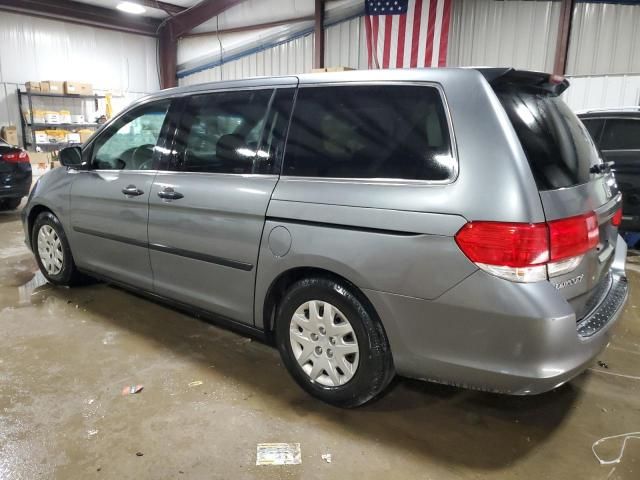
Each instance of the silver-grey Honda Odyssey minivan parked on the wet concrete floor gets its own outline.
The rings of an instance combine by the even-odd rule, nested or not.
[[[264,336],[334,405],[396,373],[544,392],[627,298],[621,195],[568,85],[493,68],[164,90],[61,152],[26,241],[53,284],[104,279]]]

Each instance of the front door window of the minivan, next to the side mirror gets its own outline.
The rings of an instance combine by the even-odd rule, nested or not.
[[[111,125],[95,141],[91,168],[148,170],[167,116],[169,101],[133,110]]]

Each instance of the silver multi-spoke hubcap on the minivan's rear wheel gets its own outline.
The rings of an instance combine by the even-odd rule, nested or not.
[[[360,350],[353,327],[335,306],[310,300],[291,317],[289,339],[298,365],[326,387],[344,385],[358,369]]]

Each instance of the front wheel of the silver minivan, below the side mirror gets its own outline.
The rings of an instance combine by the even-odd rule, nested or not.
[[[53,213],[42,212],[36,217],[31,248],[40,271],[50,283],[71,286],[83,279],[76,269],[62,224]]]

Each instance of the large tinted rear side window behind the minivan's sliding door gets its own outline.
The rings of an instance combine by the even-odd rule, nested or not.
[[[454,162],[435,88],[308,87],[298,92],[283,174],[448,180]]]

